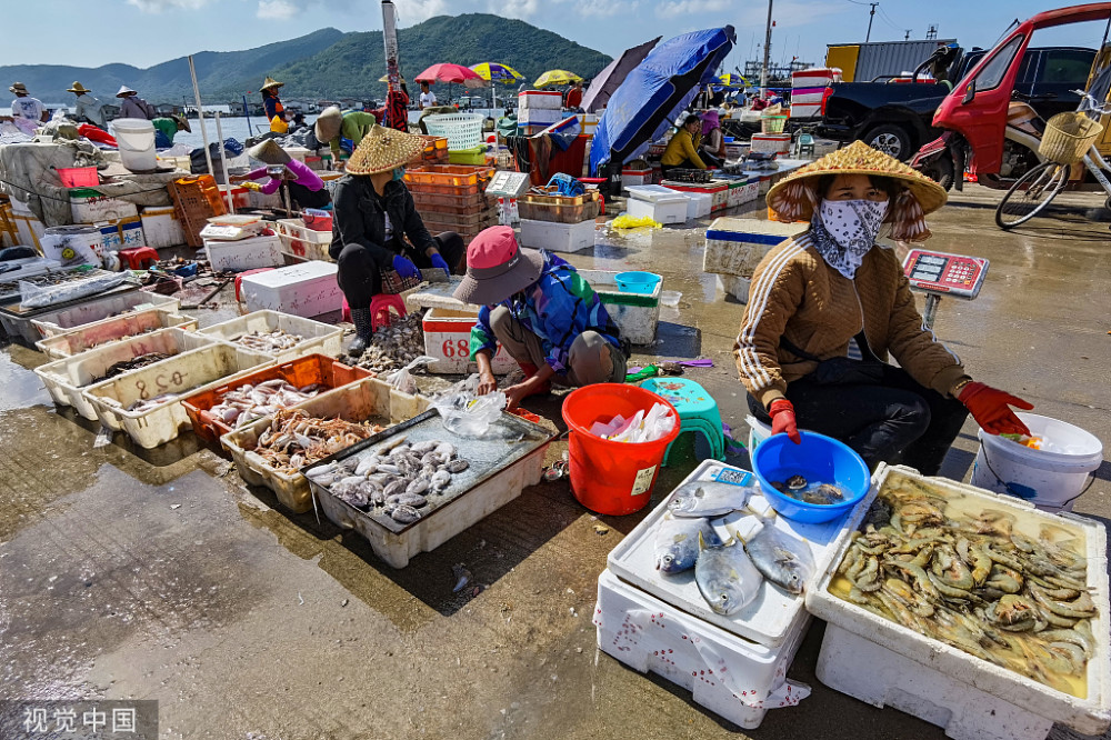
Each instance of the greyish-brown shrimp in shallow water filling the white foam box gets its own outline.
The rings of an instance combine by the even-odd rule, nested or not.
[[[1083,696],[1098,609],[1081,534],[902,474],[888,477],[877,502],[853,532],[831,593]]]

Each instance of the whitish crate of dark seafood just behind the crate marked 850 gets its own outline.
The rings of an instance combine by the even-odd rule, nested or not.
[[[189,333],[183,329],[159,329],[148,334],[132,337],[123,341],[111,342],[104,347],[91,349],[73,357],[40,364],[34,369],[47,387],[50,398],[58,406],[72,406],[73,409],[90,421],[97,420],[97,409],[84,394],[83,388],[104,377],[108,369],[117,362],[134,359],[150,352],[177,356],[181,352],[209,347],[219,341],[211,337]],[[162,360],[166,362],[167,360]],[[153,362],[148,368],[159,364]],[[131,370],[117,378],[123,378]]]

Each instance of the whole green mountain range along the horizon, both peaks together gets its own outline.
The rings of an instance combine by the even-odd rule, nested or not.
[[[565,69],[590,79],[610,62],[605,54],[551,31],[483,13],[438,16],[400,29],[398,44],[401,72],[407,80],[437,62],[468,67],[484,61],[502,62],[530,82],[549,69]],[[201,51],[193,54],[193,64],[207,103],[239,100],[249,90],[258,101],[259,86],[267,74],[286,83],[282,97],[287,100],[386,96],[386,84],[378,81],[386,73],[381,31],[343,33],[326,28],[246,51]],[[11,64],[0,67],[0,80],[19,80],[32,96],[47,103],[70,101],[72,96],[66,89],[74,80],[104,101],[121,84],[134,88],[152,103],[193,101],[189,62],[184,57],[148,69],[130,64],[104,64],[96,69]],[[416,96],[416,90],[413,86],[410,92]],[[457,86],[456,93],[459,92]]]

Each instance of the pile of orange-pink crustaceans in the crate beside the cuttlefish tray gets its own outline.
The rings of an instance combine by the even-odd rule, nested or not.
[[[254,452],[278,472],[291,476],[380,431],[382,427],[370,421],[321,419],[304,409],[282,409],[259,434]]]

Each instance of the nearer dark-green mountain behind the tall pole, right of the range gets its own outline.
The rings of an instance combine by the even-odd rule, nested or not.
[[[549,69],[570,70],[590,79],[610,58],[558,33],[520,20],[486,13],[438,16],[398,31],[401,73],[407,80],[437,62],[470,67],[496,61],[509,64],[528,81]],[[286,82],[282,93],[298,97],[376,97],[386,94],[381,31],[348,33],[323,51],[274,70]],[[446,86],[441,86],[446,90]],[[516,91],[517,86],[510,88]],[[410,87],[416,96],[417,86]],[[459,86],[454,88],[460,92]],[[441,97],[443,97],[441,94]]]

